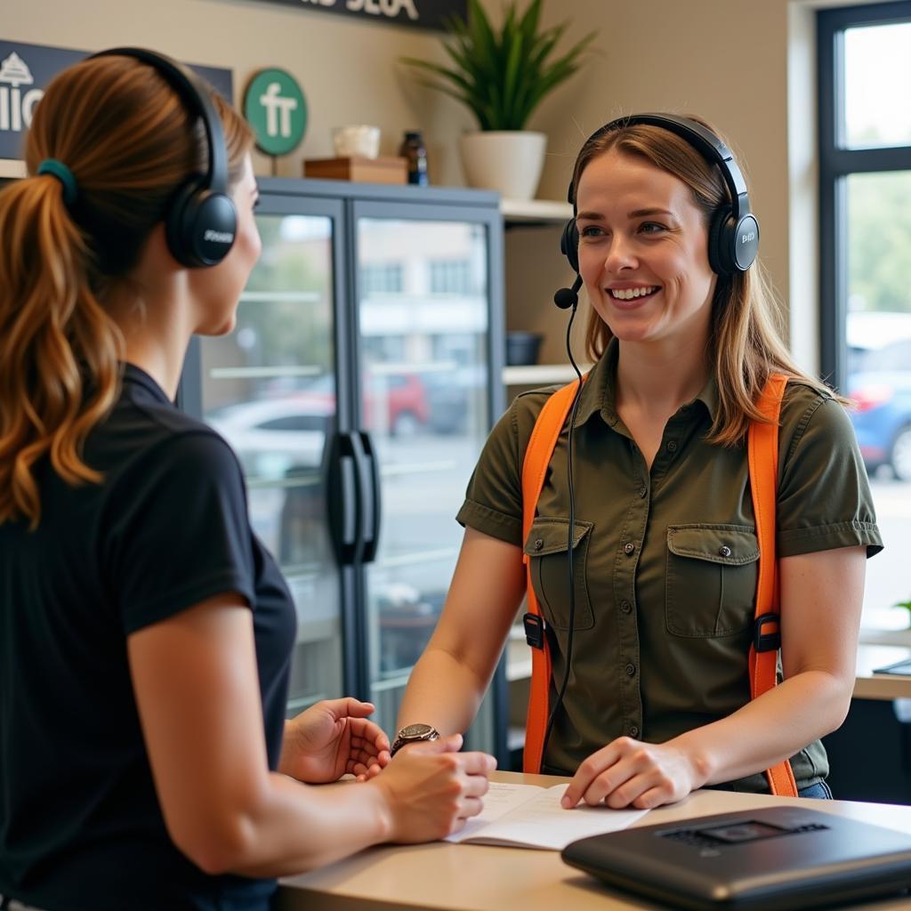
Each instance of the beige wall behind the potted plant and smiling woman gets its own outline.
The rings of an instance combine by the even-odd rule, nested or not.
[[[497,15],[500,0],[483,2]],[[550,22],[572,19],[566,41],[591,28],[599,31],[599,40],[582,71],[545,100],[529,127],[549,137],[538,196],[562,199],[581,141],[605,120],[637,110],[698,112],[708,118],[742,159],[762,224],[762,259],[779,292],[793,300],[792,341],[812,368],[816,266],[809,5],[813,0],[551,0]],[[310,122],[302,148],[279,162],[282,175],[300,174],[302,158],[331,154],[334,125],[371,122],[383,128],[384,154],[394,154],[405,128],[423,128],[433,181],[462,182],[457,138],[471,126],[470,116],[454,101],[416,86],[396,64],[402,55],[442,61],[438,33],[252,0],[23,0],[5,11],[3,31],[9,39],[36,44],[156,46],[184,60],[233,68],[238,95],[258,68],[285,67],[304,88]],[[790,146],[789,129],[795,134]],[[269,169],[266,159],[258,160],[260,173]],[[799,262],[792,260],[795,244]],[[553,270],[555,281],[565,280],[558,256]],[[541,282],[533,287],[539,290]],[[533,309],[537,312],[537,302]],[[545,310],[540,319],[552,322],[550,316]]]

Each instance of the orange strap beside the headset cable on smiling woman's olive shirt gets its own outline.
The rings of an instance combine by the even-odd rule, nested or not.
[[[578,380],[558,389],[537,415],[537,422],[528,440],[522,464],[522,542],[523,547],[535,521],[537,499],[541,496],[544,478],[548,474],[550,456],[557,445],[560,431],[566,424]],[[531,648],[531,688],[525,725],[525,752],[522,771],[538,773],[541,769],[544,735],[548,730],[548,701],[550,690],[550,650],[544,635],[544,617],[537,604],[535,587],[531,583],[531,564],[523,557],[526,569],[527,613],[524,618],[525,638]]]

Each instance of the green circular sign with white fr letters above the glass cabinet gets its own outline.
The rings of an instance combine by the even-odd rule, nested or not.
[[[243,98],[243,116],[256,134],[256,145],[269,155],[287,155],[307,127],[307,102],[301,87],[283,69],[263,69]]]

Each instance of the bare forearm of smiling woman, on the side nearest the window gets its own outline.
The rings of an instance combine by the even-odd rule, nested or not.
[[[851,688],[823,670],[806,670],[748,702],[719,722],[671,741],[686,752],[699,784],[730,782],[790,759],[807,743],[835,730]]]

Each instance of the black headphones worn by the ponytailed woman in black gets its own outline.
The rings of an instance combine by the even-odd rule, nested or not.
[[[165,233],[168,249],[181,265],[189,268],[217,265],[234,243],[237,210],[228,195],[228,152],[209,87],[187,67],[142,47],[113,47],[92,55],[99,56],[130,56],[154,67],[175,89],[189,113],[199,115],[202,120],[209,164],[205,174],[194,175],[170,200]]]

